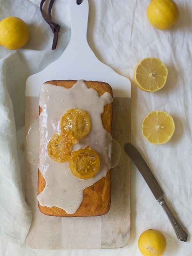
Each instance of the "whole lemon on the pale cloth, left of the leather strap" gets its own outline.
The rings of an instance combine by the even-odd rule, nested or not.
[[[7,17],[0,22],[0,45],[9,50],[23,47],[29,35],[28,25],[18,17]]]

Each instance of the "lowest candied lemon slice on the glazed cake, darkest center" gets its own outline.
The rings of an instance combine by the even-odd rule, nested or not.
[[[90,179],[100,169],[99,156],[92,149],[79,149],[72,153],[69,167],[77,178]]]

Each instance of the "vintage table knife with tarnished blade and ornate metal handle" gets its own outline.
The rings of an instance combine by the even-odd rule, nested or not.
[[[151,192],[155,196],[156,200],[163,207],[165,213],[167,214],[171,224],[175,230],[175,233],[180,241],[187,242],[188,234],[183,230],[180,226],[179,222],[176,220],[171,210],[167,206],[167,203],[164,199],[164,192],[157,182],[155,176],[152,171],[148,167],[146,161],[141,156],[140,152],[131,144],[126,143],[124,146],[124,150],[127,155],[131,158],[137,169],[140,171],[141,175],[145,179],[148,187],[151,189]]]

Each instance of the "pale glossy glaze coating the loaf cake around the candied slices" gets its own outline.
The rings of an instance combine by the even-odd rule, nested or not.
[[[44,190],[37,196],[42,206],[57,206],[68,214],[75,213],[83,200],[83,190],[105,177],[111,168],[111,135],[102,124],[104,106],[113,101],[109,93],[99,96],[95,89],[88,88],[79,80],[72,88],[51,84],[41,87],[39,105],[39,169],[46,181]],[[69,169],[68,162],[58,163],[50,159],[47,145],[51,137],[60,131],[60,118],[69,109],[79,108],[90,116],[89,133],[78,140],[72,148],[76,151],[90,146],[100,157],[100,170],[92,178],[76,178]]]

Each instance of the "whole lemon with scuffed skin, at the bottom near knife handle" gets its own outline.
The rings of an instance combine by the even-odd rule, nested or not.
[[[144,256],[161,256],[167,246],[164,235],[154,229],[144,231],[138,240],[138,247]]]

